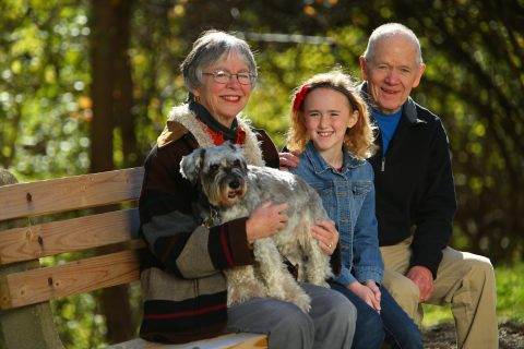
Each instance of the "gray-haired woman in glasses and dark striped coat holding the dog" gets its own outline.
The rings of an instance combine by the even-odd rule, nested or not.
[[[287,204],[266,203],[250,217],[206,228],[191,210],[196,189],[182,179],[179,164],[193,149],[225,141],[241,145],[253,165],[278,167],[278,153],[263,131],[251,129],[239,116],[257,80],[246,41],[206,32],[194,43],[181,71],[188,104],[172,109],[145,161],[140,216],[148,253],[141,275],[141,336],[187,342],[248,332],[267,334],[271,348],[349,348],[356,311],[347,299],[326,288],[302,285],[312,299],[308,314],[270,298],[227,308],[222,270],[254,263],[250,244],[286,224]],[[338,239],[336,230],[329,231],[334,227],[325,226],[319,229]]]

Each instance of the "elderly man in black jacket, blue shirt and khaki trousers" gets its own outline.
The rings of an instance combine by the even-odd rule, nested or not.
[[[380,130],[371,164],[384,286],[417,323],[420,303],[451,303],[458,348],[497,348],[491,263],[448,246],[456,209],[449,142],[441,120],[409,97],[425,70],[416,35],[379,26],[360,68]]]

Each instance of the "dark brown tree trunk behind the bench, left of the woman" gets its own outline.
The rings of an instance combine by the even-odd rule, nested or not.
[[[129,100],[122,103],[122,91],[132,92],[131,79],[123,83],[121,76],[131,76],[128,59],[129,22],[132,1],[93,0],[91,63],[93,83],[93,121],[91,128],[91,171],[115,168],[112,134],[118,116],[131,116]],[[123,64],[122,60],[128,63]],[[129,95],[130,93],[127,92]],[[106,316],[107,340],[124,341],[134,336],[128,287],[105,289],[100,297]]]

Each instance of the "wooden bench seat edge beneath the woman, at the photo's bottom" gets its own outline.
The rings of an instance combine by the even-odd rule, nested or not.
[[[133,339],[109,347],[110,349],[248,349],[267,348],[267,337],[258,334],[230,334],[183,345],[162,345],[143,339]]]

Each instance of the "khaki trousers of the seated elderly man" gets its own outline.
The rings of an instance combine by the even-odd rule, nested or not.
[[[380,248],[384,260],[385,288],[420,326],[422,308],[418,287],[404,275],[409,267],[412,240]],[[480,255],[451,248],[443,251],[434,291],[426,303],[451,304],[458,349],[498,348],[495,273],[491,262]]]

